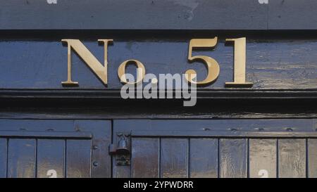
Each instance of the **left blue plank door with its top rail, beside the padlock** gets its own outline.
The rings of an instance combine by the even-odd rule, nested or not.
[[[110,143],[106,120],[0,120],[0,177],[111,177]]]

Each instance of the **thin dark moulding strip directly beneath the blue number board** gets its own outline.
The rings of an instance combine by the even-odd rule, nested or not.
[[[175,92],[179,91],[169,91]],[[136,91],[137,93],[137,91]],[[82,98],[82,99],[123,99],[120,90],[45,90],[45,89],[2,89],[1,98]],[[307,90],[197,90],[198,99],[317,99],[317,89]],[[155,100],[155,99],[150,99]],[[161,100],[161,99],[160,99]]]

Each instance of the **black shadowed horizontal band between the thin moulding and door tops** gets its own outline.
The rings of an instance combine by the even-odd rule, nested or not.
[[[89,100],[89,99],[88,99]],[[13,103],[12,103],[13,102]],[[79,104],[80,103],[80,104]],[[184,108],[178,100],[46,100],[3,101],[0,119],[231,119],[231,118],[316,118],[316,101],[311,99],[206,99]],[[89,106],[89,107],[87,107]],[[317,128],[317,127],[316,127]]]

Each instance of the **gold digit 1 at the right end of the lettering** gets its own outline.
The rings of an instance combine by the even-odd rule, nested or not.
[[[233,82],[225,82],[225,87],[252,87],[253,83],[245,82],[246,38],[225,39],[225,41],[233,41],[235,53]]]

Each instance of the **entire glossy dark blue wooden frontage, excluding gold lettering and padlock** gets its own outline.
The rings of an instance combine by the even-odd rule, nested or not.
[[[1,1],[0,177],[317,177],[317,1],[261,2]],[[215,36],[214,51],[193,50],[220,65],[197,106],[120,100],[124,60],[156,75],[194,68],[201,80],[189,40]],[[254,86],[228,89],[234,53],[224,43],[240,37]],[[107,87],[75,53],[80,86],[62,87],[65,38],[82,40],[101,63],[97,39],[114,39]],[[108,154],[118,132],[131,134],[131,165]]]

